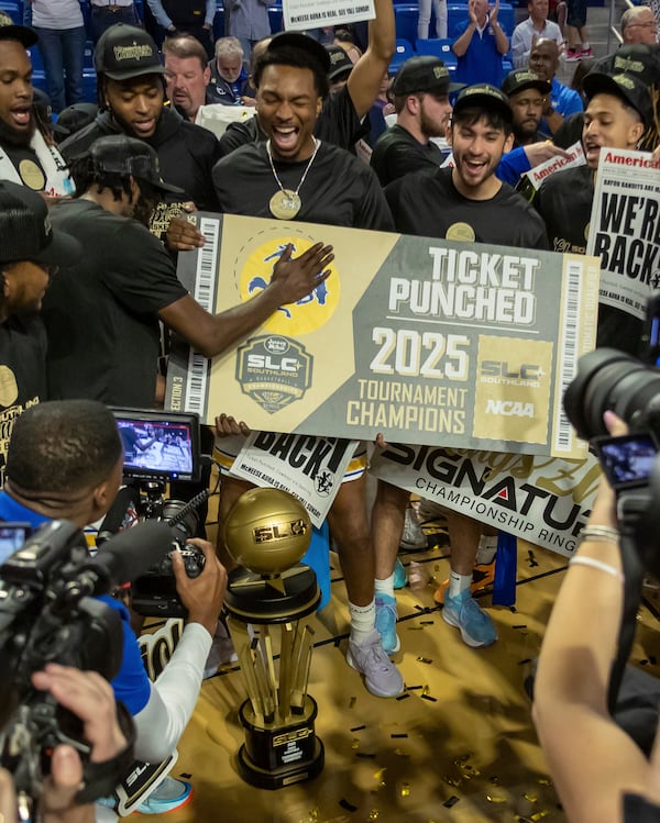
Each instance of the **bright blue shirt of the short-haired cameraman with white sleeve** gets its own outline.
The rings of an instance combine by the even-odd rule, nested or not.
[[[46,518],[22,505],[6,491],[0,491],[0,521],[30,523],[33,529],[38,529],[44,523],[50,523],[51,520],[52,518]],[[114,690],[114,698],[121,700],[131,714],[138,714],[148,702],[151,683],[142,664],[138,638],[131,629],[129,610],[123,603],[108,594],[102,594],[97,599],[118,611],[121,618],[123,631],[121,668],[110,685]]]

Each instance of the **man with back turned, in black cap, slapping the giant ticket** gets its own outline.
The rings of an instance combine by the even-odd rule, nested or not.
[[[332,260],[329,246],[316,243],[295,259],[289,247],[264,291],[210,314],[184,289],[172,258],[143,224],[162,192],[180,191],[162,180],[150,145],[127,135],[100,137],[72,162],[72,177],[76,196],[53,207],[51,219],[79,240],[84,254],[62,267],[43,304],[50,399],[151,408],[160,321],[215,357],[327,277],[318,273]]]

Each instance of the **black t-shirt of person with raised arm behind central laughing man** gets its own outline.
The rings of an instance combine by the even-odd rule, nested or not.
[[[329,94],[323,100],[323,108],[314,130],[315,135],[324,143],[332,143],[340,148],[351,149],[355,143],[369,134],[369,119],[360,122],[348,86]],[[244,122],[230,123],[220,137],[220,153],[226,157],[246,143],[265,141],[256,115]]]

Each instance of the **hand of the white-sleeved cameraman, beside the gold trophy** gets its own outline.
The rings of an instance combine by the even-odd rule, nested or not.
[[[182,603],[188,610],[188,623],[200,623],[212,637],[227,591],[227,569],[208,541],[196,537],[189,540],[188,543],[201,548],[206,564],[199,577],[189,578],[180,553],[173,552],[172,567],[176,579],[176,590]]]

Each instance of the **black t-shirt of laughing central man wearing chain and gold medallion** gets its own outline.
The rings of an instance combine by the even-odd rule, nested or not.
[[[309,160],[274,163],[282,185],[295,191]],[[252,143],[223,157],[213,169],[213,185],[222,212],[273,219],[268,201],[279,186],[264,143]],[[299,197],[302,204],[296,220],[383,232],[394,229],[383,190],[371,168],[328,143],[321,143]]]

